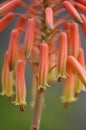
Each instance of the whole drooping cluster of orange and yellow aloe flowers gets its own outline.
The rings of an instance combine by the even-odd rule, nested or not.
[[[19,6],[26,12],[15,12]],[[24,111],[27,62],[33,71],[33,123],[41,115],[47,87],[52,87],[55,81],[63,81],[61,99],[65,107],[76,101],[81,91],[86,91],[85,58],[79,33],[80,26],[86,37],[85,13],[86,0],[29,0],[29,4],[23,0],[7,0],[0,5],[0,32],[18,18],[4,55],[1,95]],[[20,44],[22,34],[24,39]],[[14,90],[16,99],[12,100]],[[31,130],[38,130],[36,125]]]

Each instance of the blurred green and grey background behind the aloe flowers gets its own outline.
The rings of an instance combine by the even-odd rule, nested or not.
[[[26,0],[27,1],[27,0]],[[24,11],[24,10],[22,10]],[[15,20],[14,20],[15,22]],[[7,49],[10,30],[14,22],[6,30],[0,33],[0,77],[3,66],[4,51]],[[83,47],[86,43],[83,38]],[[31,101],[31,71],[27,70],[27,107],[21,113],[18,106],[11,104],[4,96],[0,96],[0,130],[30,130],[32,120]],[[0,81],[1,91],[1,81]],[[45,93],[46,106],[43,110],[40,130],[86,130],[86,93],[81,93],[79,100],[69,105],[65,109],[60,100],[62,95],[62,84],[55,83],[52,88]]]

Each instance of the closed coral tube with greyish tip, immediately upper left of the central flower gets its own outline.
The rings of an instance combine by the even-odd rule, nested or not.
[[[36,21],[34,18],[30,18],[27,22],[27,29],[24,39],[24,50],[25,56],[28,58],[31,54],[33,42],[34,42],[34,33],[35,33]]]

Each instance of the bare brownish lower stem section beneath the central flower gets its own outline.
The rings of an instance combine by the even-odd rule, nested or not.
[[[39,130],[42,110],[44,107],[44,93],[37,90],[35,108],[33,112],[33,119],[30,130]]]

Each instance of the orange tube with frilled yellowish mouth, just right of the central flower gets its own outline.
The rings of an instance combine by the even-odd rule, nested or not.
[[[57,62],[57,69],[58,69],[58,81],[60,78],[66,78],[66,61],[67,61],[67,34],[62,32],[59,35],[59,50],[58,50],[58,62]]]

